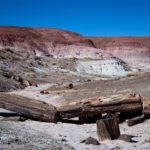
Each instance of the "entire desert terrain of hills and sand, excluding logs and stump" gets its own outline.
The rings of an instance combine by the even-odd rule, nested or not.
[[[0,27],[0,95],[61,108],[93,97],[135,93],[148,105],[149,45],[149,37],[94,38],[58,29]],[[42,122],[16,111],[6,110],[0,99],[0,149],[150,149],[147,118],[132,127],[127,119],[119,123],[121,135],[133,136],[130,140],[100,141],[96,121]],[[89,137],[98,144],[82,143]]]

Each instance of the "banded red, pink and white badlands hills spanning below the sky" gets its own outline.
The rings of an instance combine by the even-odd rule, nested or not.
[[[148,39],[83,37],[54,28],[1,26],[0,90],[37,82],[74,82],[77,77],[126,76],[135,71],[130,62],[149,63]]]

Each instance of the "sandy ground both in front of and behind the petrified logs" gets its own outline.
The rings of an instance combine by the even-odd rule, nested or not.
[[[41,94],[41,90],[48,90],[49,94]],[[25,90],[11,92],[12,94],[22,95],[46,101],[55,106],[66,104],[70,101],[77,101],[89,96],[108,96],[112,94],[125,94],[138,92],[143,97],[149,98],[150,76],[141,74],[127,78],[108,80],[108,81],[89,81],[77,84],[73,89],[66,86],[56,86],[52,84],[39,85],[38,87],[28,87]],[[1,144],[13,143],[14,139],[19,138],[21,145],[26,149],[43,149],[49,147],[53,149],[75,149],[75,150],[149,150],[150,149],[150,120],[144,123],[128,127],[126,122],[120,124],[121,134],[135,136],[136,143],[129,143],[121,140],[104,141],[100,145],[85,145],[80,142],[88,137],[98,139],[96,134],[96,124],[73,124],[73,123],[44,123],[27,120],[25,122],[2,121],[0,123]],[[8,136],[6,136],[8,135]],[[4,137],[4,138],[3,138]],[[11,140],[10,140],[11,139]],[[29,141],[26,142],[26,141]],[[16,142],[15,142],[16,143]]]

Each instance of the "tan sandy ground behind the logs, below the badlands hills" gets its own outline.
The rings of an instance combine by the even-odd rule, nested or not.
[[[74,85],[69,89],[66,85],[43,84],[38,87],[28,87],[25,90],[11,92],[29,98],[45,101],[56,107],[73,101],[80,101],[89,97],[110,97],[139,93],[144,99],[150,98],[150,73],[129,76],[120,79],[89,81]],[[41,90],[48,90],[49,94],[41,94]]]

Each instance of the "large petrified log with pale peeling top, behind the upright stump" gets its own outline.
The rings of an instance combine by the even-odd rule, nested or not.
[[[138,94],[130,94],[125,97],[90,98],[80,102],[72,102],[61,106],[57,110],[62,118],[73,118],[87,115],[116,112],[138,112],[142,111],[143,102]]]

